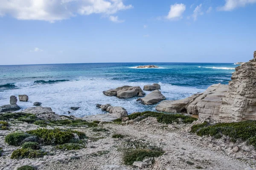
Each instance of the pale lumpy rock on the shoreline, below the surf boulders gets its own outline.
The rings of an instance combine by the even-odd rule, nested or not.
[[[128,112],[123,107],[113,107],[110,104],[103,104],[100,106],[103,111],[107,111],[115,118],[124,118],[128,116]]]

